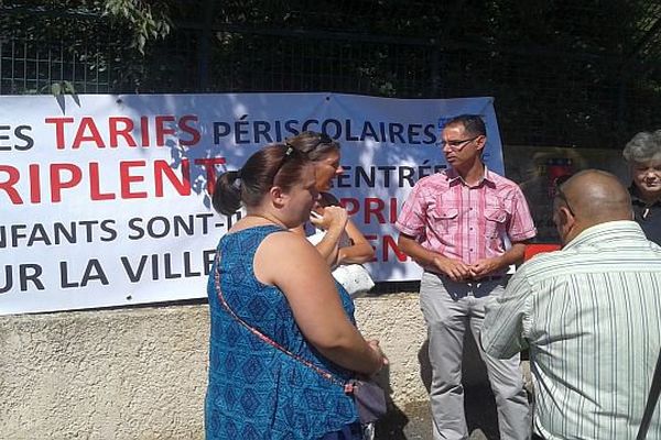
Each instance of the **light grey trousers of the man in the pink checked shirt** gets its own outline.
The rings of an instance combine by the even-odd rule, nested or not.
[[[430,400],[434,440],[467,439],[462,385],[464,333],[469,326],[480,356],[487,366],[496,397],[500,438],[530,439],[531,415],[520,356],[499,360],[481,350],[479,333],[485,302],[505,290],[505,279],[484,283],[454,283],[425,272],[420,284],[420,305],[427,324],[432,365]]]

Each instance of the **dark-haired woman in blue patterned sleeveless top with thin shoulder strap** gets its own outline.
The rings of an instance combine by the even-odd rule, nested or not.
[[[387,361],[356,329],[351,299],[319,253],[289,231],[317,199],[314,165],[282,144],[218,178],[214,208],[243,206],[247,216],[220,240],[209,276],[209,440],[360,439],[342,384]]]

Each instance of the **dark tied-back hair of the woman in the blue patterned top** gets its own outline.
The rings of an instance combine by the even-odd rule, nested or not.
[[[218,176],[212,205],[217,212],[230,216],[241,208],[258,206],[269,190],[279,186],[284,191],[301,179],[308,158],[284,144],[271,144],[253,153],[239,170]]]

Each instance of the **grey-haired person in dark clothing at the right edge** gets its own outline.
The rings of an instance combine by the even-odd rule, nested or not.
[[[661,130],[640,132],[622,152],[629,163],[635,220],[647,238],[661,244]]]

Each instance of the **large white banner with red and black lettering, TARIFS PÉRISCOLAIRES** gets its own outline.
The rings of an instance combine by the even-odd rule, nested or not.
[[[372,243],[376,280],[416,279],[392,223],[444,168],[438,128],[481,114],[502,173],[491,98],[335,94],[0,97],[0,315],[199,298],[219,238],[215,176],[303,130],[342,144],[333,193]]]

